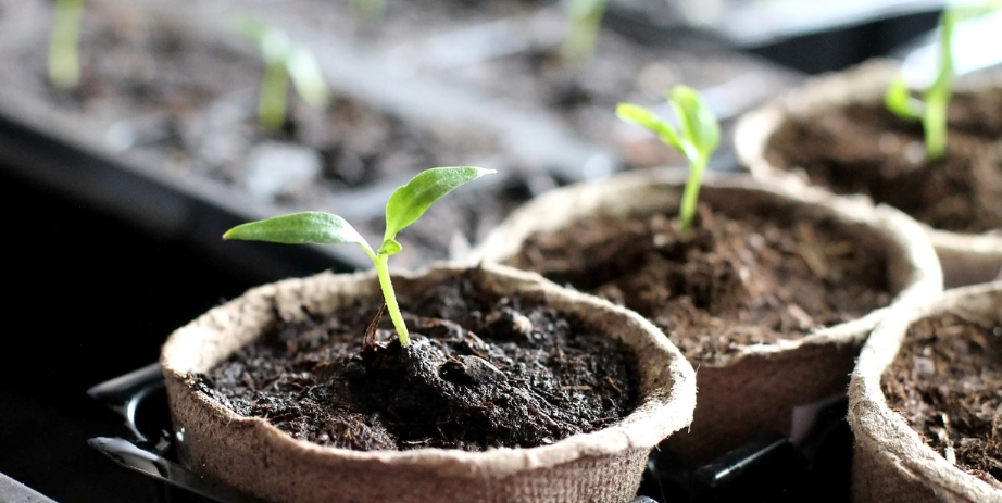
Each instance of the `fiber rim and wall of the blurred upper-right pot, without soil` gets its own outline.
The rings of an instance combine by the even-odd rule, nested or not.
[[[766,147],[776,130],[790,117],[813,115],[850,103],[882,103],[888,84],[899,75],[900,65],[890,60],[872,60],[852,68],[809,80],[801,88],[743,114],[735,126],[735,149],[739,162],[760,179],[789,178],[810,184],[802,172],[775,167],[766,158]],[[993,76],[962,81],[959,91],[978,87],[999,87]],[[1002,230],[986,234],[951,232],[923,227],[939,254],[947,287],[959,287],[995,279],[1002,271]]]

